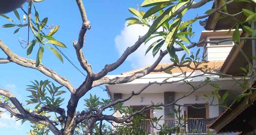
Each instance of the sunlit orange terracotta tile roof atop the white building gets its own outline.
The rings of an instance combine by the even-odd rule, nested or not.
[[[219,70],[222,67],[223,63],[224,63],[224,61],[210,61],[208,63],[202,63],[201,65],[199,65],[199,67],[204,67],[205,65],[207,65],[211,69]],[[164,67],[167,67],[167,66],[169,66],[171,64],[172,63],[159,63],[159,65],[157,65],[157,67],[155,69],[159,69],[161,67],[164,68]],[[134,70],[131,70],[131,71],[128,71],[128,72],[123,72],[121,74],[122,75],[131,75],[131,74],[140,72],[141,70],[144,70],[144,69],[146,69],[149,66],[141,67],[141,68],[134,69]],[[191,66],[192,66],[192,64],[191,64]],[[194,67],[194,66],[192,66],[192,67]],[[193,71],[192,69],[189,69],[188,67],[181,67],[181,70],[183,72],[187,72],[187,73]],[[175,67],[171,71],[172,71],[172,73],[182,73],[181,70],[180,70],[180,68]],[[200,72],[200,71],[196,70],[195,72]],[[165,73],[165,72],[151,72],[150,74],[162,74],[162,73]]]

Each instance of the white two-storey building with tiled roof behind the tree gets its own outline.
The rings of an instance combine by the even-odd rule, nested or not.
[[[230,38],[232,35],[232,32],[229,35],[226,35],[227,31],[203,31],[202,35],[200,37],[200,40],[222,40],[226,38]],[[231,48],[233,47],[233,42],[223,42],[219,45],[213,45],[213,44],[204,44],[199,45],[199,47],[203,47],[203,55],[206,56],[206,60],[210,61],[207,63],[208,67],[220,69],[223,65],[227,55],[229,54]],[[166,67],[167,65],[170,65],[171,63],[161,63],[159,64],[156,69],[160,67]],[[135,69],[132,71],[124,72],[121,75],[111,75],[108,76],[109,78],[114,77],[125,77],[129,76],[135,72],[138,72],[140,70],[143,70],[146,67],[142,67],[140,69]],[[182,67],[183,71],[186,71],[187,74],[191,73],[192,70],[187,69],[185,67]],[[140,89],[143,88],[143,86],[147,85],[148,82],[158,81],[162,82],[163,80],[176,76],[181,73],[181,70],[178,68],[172,69],[173,75],[164,73],[164,72],[154,72],[150,73],[142,78],[138,78],[132,82],[128,82],[126,84],[116,84],[116,85],[106,85],[106,89],[108,90],[109,96],[111,97],[111,100],[117,100],[117,99],[125,99],[128,96],[131,95],[131,92],[138,92]],[[196,76],[202,74],[202,72],[195,71],[192,76]],[[178,77],[172,77],[168,79],[168,81],[174,81],[174,80],[180,80],[183,76]],[[188,79],[192,80],[191,84],[198,85],[200,82],[202,82],[206,77],[210,78],[217,78],[218,80],[212,81],[212,83],[217,83],[222,86],[221,89],[219,89],[219,94],[222,96],[226,91],[229,92],[229,96],[226,101],[226,105],[228,106],[231,101],[241,92],[241,88],[239,85],[236,85],[236,83],[231,80],[230,78],[222,78],[219,76],[212,76],[212,75],[204,75],[199,76],[196,78]],[[140,95],[133,96],[130,100],[124,102],[124,106],[133,106],[135,109],[141,109],[145,105],[150,105],[151,101],[155,104],[157,103],[163,103],[168,104],[172,103],[173,101],[176,101],[178,98],[181,98],[184,95],[188,95],[191,92],[191,86],[189,85],[181,85],[183,82],[177,82],[172,84],[163,84],[163,85],[157,85],[153,84],[149,86],[146,90],[144,90]],[[192,95],[185,97],[181,100],[177,101],[177,104],[180,105],[194,105],[196,107],[204,107],[208,103],[211,103],[212,99],[207,99],[204,95],[210,94],[212,91],[214,91],[216,88],[207,85],[203,88],[198,89],[195,93]],[[215,98],[213,100],[212,104],[217,104],[219,102],[218,98]],[[148,110],[148,115],[150,117],[160,117],[163,116],[161,119],[162,123],[168,123],[171,125],[175,119],[177,119],[175,116],[170,116],[170,113],[173,113],[174,108],[177,108],[177,106],[169,106],[169,107],[162,107],[163,109],[158,110]],[[215,118],[218,117],[226,108],[218,107],[218,106],[210,106],[202,109],[195,109],[192,107],[185,107],[182,111],[182,115],[187,115],[188,122],[187,122],[187,128],[186,133],[187,134],[198,134],[197,131],[202,132],[202,134],[207,134],[207,122],[206,119],[209,118]],[[120,113],[115,113],[114,116],[120,117]],[[145,123],[148,122],[145,120]],[[147,128],[148,134],[154,132],[157,133],[156,129],[150,128],[150,126],[145,126],[144,128]]]

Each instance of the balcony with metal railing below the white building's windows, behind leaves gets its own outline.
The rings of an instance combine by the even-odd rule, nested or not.
[[[146,130],[148,134],[157,134],[160,128],[158,124],[162,125],[166,123],[166,128],[172,130],[178,126],[177,119],[161,119],[158,123],[151,123],[149,119],[143,120],[142,129]],[[181,121],[180,132],[173,131],[172,135],[185,134],[185,135],[202,135],[207,133],[206,122],[203,118],[189,118]],[[154,128],[155,127],[155,128]]]

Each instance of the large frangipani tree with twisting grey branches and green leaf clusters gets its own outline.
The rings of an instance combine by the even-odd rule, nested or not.
[[[170,2],[171,1],[171,2]],[[197,89],[202,88],[205,85],[211,85],[216,88],[221,88],[218,84],[214,84],[211,81],[211,78],[206,78],[202,84],[193,86],[190,84],[189,81],[186,81],[187,78],[193,78],[196,76],[191,76],[191,74],[187,74],[183,72],[181,75],[184,76],[181,80],[178,81],[172,81],[168,82],[167,80],[163,82],[149,82],[147,86],[145,86],[143,89],[140,89],[138,93],[131,93],[131,96],[129,96],[127,99],[119,99],[116,101],[111,101],[109,99],[102,99],[99,100],[99,97],[96,95],[90,95],[89,99],[84,100],[85,106],[87,107],[83,111],[79,112],[76,111],[76,108],[78,106],[78,101],[86,95],[93,87],[97,87],[99,85],[103,84],[123,84],[127,82],[131,82],[135,80],[136,78],[143,77],[150,72],[160,72],[165,71],[166,73],[170,73],[170,70],[173,67],[188,67],[192,70],[200,70],[203,74],[215,74],[215,75],[221,75],[221,76],[227,76],[232,77],[228,74],[221,74],[214,72],[214,69],[210,69],[209,67],[199,67],[202,65],[202,63],[207,63],[204,59],[199,57],[199,51],[197,51],[196,54],[191,54],[189,49],[192,47],[197,46],[200,43],[214,43],[218,44],[221,42],[225,42],[227,40],[233,40],[235,43],[240,42],[240,38],[238,28],[243,26],[242,28],[244,31],[251,33],[255,35],[255,30],[244,26],[244,22],[239,22],[239,20],[236,20],[236,31],[233,34],[232,39],[225,39],[221,41],[199,41],[197,43],[191,43],[190,38],[192,38],[192,35],[194,34],[192,32],[192,23],[195,22],[197,19],[206,18],[212,13],[219,12],[223,16],[233,16],[229,14],[226,11],[226,5],[233,3],[233,2],[239,2],[239,0],[230,0],[225,1],[223,3],[223,6],[221,8],[216,9],[210,9],[206,12],[203,16],[196,16],[195,18],[188,20],[186,22],[183,22],[182,17],[185,15],[187,11],[193,8],[200,8],[204,4],[210,2],[212,0],[201,0],[199,2],[194,2],[193,0],[181,0],[181,1],[174,1],[174,0],[144,0],[141,7],[151,7],[148,9],[148,11],[145,13],[143,11],[139,11],[133,8],[129,8],[129,11],[135,15],[136,17],[128,18],[128,26],[133,24],[141,24],[143,26],[149,27],[148,32],[140,36],[138,41],[134,43],[131,47],[128,47],[124,53],[121,55],[121,57],[114,63],[105,65],[105,67],[102,69],[101,72],[94,73],[93,69],[91,68],[91,65],[87,61],[87,59],[83,55],[82,48],[84,46],[85,41],[85,35],[87,34],[87,30],[90,30],[90,22],[87,19],[86,15],[86,9],[84,8],[82,0],[76,0],[76,3],[78,5],[81,18],[82,18],[82,26],[79,32],[78,41],[73,41],[74,49],[76,51],[77,58],[80,62],[80,65],[87,73],[86,79],[84,82],[78,87],[74,88],[74,86],[69,82],[66,78],[60,76],[54,70],[49,69],[48,67],[44,66],[42,62],[42,56],[44,54],[44,48],[48,48],[57,56],[57,58],[60,59],[61,62],[63,62],[63,58],[61,54],[58,51],[58,47],[66,47],[64,43],[56,40],[53,38],[53,35],[59,30],[59,26],[53,27],[52,30],[46,35],[44,32],[42,32],[42,29],[48,27],[47,21],[48,18],[40,19],[39,13],[36,10],[34,5],[35,0],[29,1],[29,7],[28,11],[23,12],[27,16],[23,16],[23,20],[25,21],[27,19],[27,23],[25,24],[16,24],[13,22],[11,18],[8,18],[5,15],[1,15],[2,17],[10,20],[12,23],[5,24],[3,27],[18,27],[17,30],[15,30],[15,33],[19,31],[20,28],[29,26],[30,31],[34,35],[34,39],[31,41],[24,41],[23,44],[27,46],[27,56],[31,54],[33,51],[34,46],[38,45],[38,53],[37,53],[37,59],[36,61],[20,57],[13,53],[5,43],[3,43],[0,40],[0,48],[1,50],[7,55],[7,58],[0,58],[0,63],[16,63],[23,67],[32,68],[35,70],[38,70],[42,74],[52,78],[54,81],[56,81],[60,86],[54,85],[52,82],[45,80],[45,81],[34,81],[31,82],[31,85],[28,85],[27,90],[31,92],[31,95],[28,96],[30,100],[27,101],[28,104],[34,104],[35,107],[31,110],[26,109],[20,102],[16,99],[16,97],[9,91],[5,89],[0,89],[0,95],[2,95],[2,100],[0,103],[0,107],[6,109],[8,112],[11,113],[11,116],[15,116],[17,120],[21,120],[21,122],[30,121],[34,124],[33,129],[30,131],[30,134],[48,134],[49,131],[51,131],[55,135],[80,135],[80,134],[128,134],[130,132],[131,134],[143,134],[143,131],[134,131],[130,130],[130,126],[136,126],[136,121],[138,123],[139,120],[143,119],[143,112],[145,110],[154,108],[154,109],[160,109],[159,107],[165,107],[169,105],[177,105],[179,107],[178,110],[176,110],[176,115],[178,116],[180,113],[180,107],[182,105],[176,104],[177,101],[171,104],[162,104],[162,103],[152,103],[151,105],[148,105],[144,108],[142,108],[139,111],[135,111],[133,108],[129,107],[122,107],[122,103],[131,99],[134,95],[139,95],[143,90],[145,90],[148,86],[152,84],[165,84],[165,83],[174,83],[174,82],[180,82],[184,81],[184,85],[190,85],[192,92],[188,95],[185,95],[182,98],[185,98],[189,95],[191,95],[193,92],[195,92]],[[243,0],[247,1],[247,0]],[[38,1],[36,1],[38,2]],[[251,1],[247,1],[251,2]],[[152,7],[153,6],[153,7]],[[32,8],[33,7],[33,8]],[[31,9],[35,10],[35,16],[33,20],[31,18]],[[19,13],[14,10],[14,13],[16,17],[20,20]],[[251,22],[255,21],[255,12],[244,10],[241,13],[244,13],[248,18],[245,22]],[[153,22],[152,24],[150,22]],[[161,30],[162,29],[162,30]],[[160,30],[160,31],[159,31]],[[113,70],[117,69],[122,63],[126,60],[126,58],[132,54],[134,51],[136,51],[140,45],[144,42],[147,42],[150,39],[153,39],[155,36],[160,36],[162,39],[157,40],[154,42],[151,46],[148,47],[146,50],[146,53],[148,53],[153,48],[153,55],[159,53],[159,57],[157,60],[146,69],[134,73],[127,77],[116,77],[116,78],[108,78],[106,75],[109,72],[112,72]],[[255,39],[255,38],[246,38],[248,40]],[[191,43],[191,45],[185,46],[184,43]],[[179,45],[179,48],[174,47],[174,43]],[[163,45],[166,45],[166,50],[160,50]],[[56,47],[54,49],[53,47]],[[184,55],[182,58],[178,58],[176,55],[177,51],[183,51],[185,50],[189,57],[186,57]],[[240,49],[241,50],[241,49]],[[155,67],[159,64],[161,59],[169,54],[170,59],[173,62],[169,66],[165,68],[155,69]],[[250,63],[250,62],[249,62]],[[253,67],[253,66],[251,66]],[[254,70],[251,68],[247,75],[250,75],[251,73],[255,73]],[[203,74],[200,74],[202,76]],[[238,83],[241,83],[240,81],[237,81]],[[243,84],[245,85],[245,84]],[[70,99],[67,104],[67,108],[61,108],[61,103],[63,99],[61,99],[61,94],[63,94],[65,91],[60,90],[61,87],[65,87],[70,92]],[[246,88],[249,88],[249,86],[245,85]],[[250,88],[252,89],[252,88]],[[46,94],[47,93],[47,94]],[[208,95],[208,98],[211,98],[212,100],[217,97],[221,99],[221,102],[225,100],[227,94],[225,94],[223,97],[220,97],[218,95],[218,92],[212,92],[211,95]],[[178,99],[180,100],[180,99]],[[213,105],[213,104],[209,104]],[[218,105],[218,104],[217,104]],[[184,106],[184,105],[183,105]],[[112,109],[114,112],[119,111],[124,114],[123,117],[117,118],[112,115],[105,115],[103,113],[106,109]],[[67,114],[65,113],[67,111]],[[48,117],[45,115],[45,113],[53,112],[55,113],[55,116]],[[141,116],[141,117],[135,117],[135,116]],[[179,119],[184,119],[184,116],[178,116]],[[113,123],[123,123],[124,126],[117,127],[114,131],[111,127],[107,126],[102,121],[109,122],[111,124]],[[158,118],[153,118],[151,122],[157,122]],[[58,126],[60,125],[60,126]],[[182,123],[178,121],[177,127],[178,129]],[[116,126],[113,124],[113,126]],[[138,126],[138,125],[137,125]],[[157,127],[155,127],[157,128]],[[166,131],[166,128],[164,128],[164,125],[161,128],[161,134],[168,134]],[[136,132],[136,133],[134,133]]]

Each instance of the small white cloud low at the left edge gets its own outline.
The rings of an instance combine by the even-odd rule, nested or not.
[[[0,118],[0,128],[12,128],[21,130],[21,123],[19,121],[15,121],[14,117],[10,116],[10,113],[5,112],[1,114]]]

